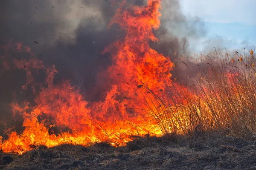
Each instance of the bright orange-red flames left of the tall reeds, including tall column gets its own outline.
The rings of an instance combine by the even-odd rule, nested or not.
[[[109,26],[118,24],[125,37],[103,51],[112,54],[112,65],[99,73],[109,80],[104,100],[88,103],[69,81],[54,84],[55,66],[43,65],[21,43],[16,44],[16,49],[19,55],[29,54],[29,61],[10,61],[8,54],[2,56],[6,70],[26,72],[22,89],[26,91],[31,86],[35,99],[11,104],[13,114],[22,115],[25,130],[20,134],[7,130],[8,139],[0,136],[0,150],[23,154],[39,145],[87,145],[104,141],[120,146],[132,140],[131,136],[165,133],[157,119],[166,108],[156,96],[165,102],[165,94],[172,85],[173,63],[149,46],[149,41],[157,41],[153,29],[160,26],[160,3],[160,0],[148,0],[143,7],[121,3],[117,9]],[[3,48],[7,52],[10,46]],[[40,70],[46,78],[36,83],[32,73]]]

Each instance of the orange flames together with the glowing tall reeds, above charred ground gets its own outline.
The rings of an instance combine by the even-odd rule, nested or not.
[[[54,82],[55,65],[44,65],[29,47],[21,43],[1,46],[5,52],[0,56],[3,71],[26,73],[26,84],[20,93],[14,94],[15,98],[30,89],[35,99],[11,102],[13,115],[23,119],[23,129],[18,133],[14,126],[6,128],[7,137],[0,136],[0,150],[22,155],[38,150],[41,145],[53,149],[62,144],[68,147],[67,144],[109,142],[120,147],[132,141],[133,136],[224,129],[233,136],[254,140],[253,50],[248,56],[236,52],[232,57],[215,51],[214,56],[198,63],[198,70],[186,62],[174,64],[170,57],[149,45],[150,41],[157,41],[153,30],[160,26],[160,4],[160,0],[148,0],[147,5],[140,7],[119,4],[110,26],[119,25],[125,37],[103,52],[111,54],[112,64],[98,75],[107,80],[103,87],[108,87],[99,101],[86,101],[69,80]],[[10,52],[14,48],[18,59]],[[180,65],[190,69],[191,76],[183,81],[180,77],[172,79],[171,74]],[[41,71],[45,80],[36,82]],[[127,147],[143,148],[131,143]],[[43,153],[37,154],[41,157]]]

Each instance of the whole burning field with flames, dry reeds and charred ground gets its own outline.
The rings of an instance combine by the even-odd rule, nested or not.
[[[124,35],[89,96],[22,42],[0,46],[2,77],[23,79],[0,120],[0,169],[256,169],[255,49],[164,56],[149,43],[160,5],[117,8],[109,27]]]

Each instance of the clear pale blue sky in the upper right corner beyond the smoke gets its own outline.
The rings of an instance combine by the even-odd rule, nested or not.
[[[256,0],[180,0],[180,6],[187,17],[204,21],[207,34],[197,40],[201,44],[197,50],[208,48],[205,42],[221,42],[227,48],[255,48]]]

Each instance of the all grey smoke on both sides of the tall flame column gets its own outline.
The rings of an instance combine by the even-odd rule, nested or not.
[[[142,6],[147,0],[128,2]],[[124,35],[115,25],[108,28],[115,10],[116,5],[110,0],[1,0],[0,45],[10,41],[23,42],[44,65],[55,65],[58,71],[55,83],[70,79],[73,85],[81,89],[85,99],[93,102],[99,100],[108,88],[104,77],[98,74],[111,65],[111,57],[108,53],[102,54],[102,51]],[[162,0],[161,13],[160,29],[155,31],[159,42],[151,42],[151,47],[171,57],[172,61],[179,61],[179,56],[190,54],[189,40],[196,40],[206,34],[204,22],[199,18],[185,17],[179,0]],[[0,55],[3,55],[1,53],[3,51],[0,51]],[[20,54],[9,51],[9,57],[18,59]],[[26,59],[29,55],[23,57]],[[196,66],[190,62],[190,65]],[[0,67],[3,67],[1,62]],[[180,72],[187,70],[184,67],[175,68],[174,77]],[[21,91],[26,75],[19,71],[2,71],[2,74],[0,119],[10,120],[13,125],[20,117],[16,115],[15,119],[12,118],[9,102],[12,102],[13,94]],[[42,79],[38,77],[39,82]],[[23,94],[27,100],[34,97],[29,92]]]

